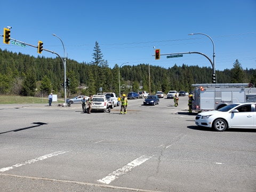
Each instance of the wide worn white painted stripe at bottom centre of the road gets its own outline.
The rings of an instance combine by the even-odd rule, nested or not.
[[[153,155],[154,156],[154,155]],[[151,156],[151,157],[153,157]],[[97,181],[109,184],[111,181],[114,181],[119,176],[131,171],[134,167],[141,165],[142,163],[146,162],[151,157],[147,157],[146,155],[142,155],[141,157],[134,159],[132,162],[128,163],[127,165],[123,166],[120,169],[108,174],[105,178],[99,179]]]

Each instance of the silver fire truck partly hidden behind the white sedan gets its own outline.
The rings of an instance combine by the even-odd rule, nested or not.
[[[249,83],[193,84],[194,111],[218,110],[237,102],[256,102],[256,88]]]

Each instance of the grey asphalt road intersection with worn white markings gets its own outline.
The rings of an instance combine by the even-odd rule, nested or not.
[[[187,97],[142,102],[0,105],[0,191],[256,191],[256,130],[198,127]]]

